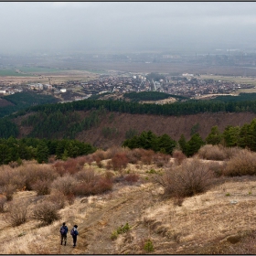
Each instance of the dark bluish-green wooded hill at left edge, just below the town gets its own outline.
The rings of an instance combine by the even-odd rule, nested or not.
[[[12,102],[14,105],[9,105],[0,108],[0,117],[9,115],[12,112],[17,112],[26,109],[29,106],[55,103],[58,100],[51,95],[42,95],[36,92],[16,92],[15,94],[3,97],[6,101]]]

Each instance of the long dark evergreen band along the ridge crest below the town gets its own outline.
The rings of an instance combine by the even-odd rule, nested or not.
[[[45,104],[29,107],[24,112],[16,113],[23,115],[27,112],[67,112],[67,111],[90,111],[102,109],[109,112],[128,112],[138,114],[157,114],[157,115],[186,115],[197,114],[200,112],[256,112],[256,101],[184,101],[169,104],[140,104],[127,101],[108,101],[108,100],[84,100],[72,101],[63,104]]]

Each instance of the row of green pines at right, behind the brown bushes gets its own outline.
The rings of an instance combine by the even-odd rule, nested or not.
[[[245,123],[241,127],[228,125],[223,133],[218,126],[213,126],[205,140],[199,133],[193,134],[187,141],[184,134],[181,134],[176,142],[169,135],[157,136],[151,131],[135,135],[123,142],[123,146],[133,148],[152,149],[155,152],[172,154],[175,148],[180,149],[185,155],[192,156],[204,144],[222,144],[227,147],[239,146],[256,152],[256,119],[251,123]]]

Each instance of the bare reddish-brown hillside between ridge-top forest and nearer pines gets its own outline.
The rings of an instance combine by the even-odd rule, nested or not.
[[[82,120],[90,116],[91,112],[93,111],[76,113]],[[219,130],[223,132],[227,125],[241,126],[244,123],[251,123],[255,116],[256,114],[252,112],[205,112],[182,116],[106,112],[100,116],[96,125],[77,133],[76,139],[106,149],[112,145],[121,145],[126,139],[125,134],[131,130],[137,133],[151,130],[157,135],[166,133],[177,141],[182,133],[187,139],[190,138],[191,129],[194,126],[197,126],[197,132],[205,138],[214,125],[218,125]],[[33,130],[33,126],[21,124],[26,119],[27,115],[14,120],[19,127],[19,138],[28,135]],[[109,131],[109,133],[106,134],[104,131]],[[61,133],[59,135],[61,138]]]

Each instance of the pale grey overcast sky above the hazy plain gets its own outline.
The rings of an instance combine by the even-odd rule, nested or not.
[[[255,2],[0,2],[0,52],[256,48]]]

